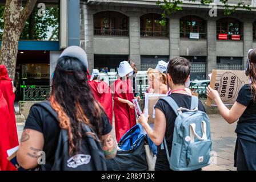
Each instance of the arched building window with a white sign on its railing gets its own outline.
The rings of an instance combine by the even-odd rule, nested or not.
[[[181,18],[180,36],[181,38],[206,39],[205,20],[197,16],[185,16]]]

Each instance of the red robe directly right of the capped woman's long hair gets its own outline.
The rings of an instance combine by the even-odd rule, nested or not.
[[[113,122],[113,106],[112,106],[112,93],[104,81],[90,81],[89,85],[91,90],[93,91],[95,99],[101,104],[103,109],[105,110],[107,117],[109,117],[109,121],[112,125]]]

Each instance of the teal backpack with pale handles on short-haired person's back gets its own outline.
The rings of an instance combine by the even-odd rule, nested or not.
[[[170,96],[161,100],[166,101],[177,115],[171,155],[165,138],[161,145],[161,149],[164,147],[166,150],[170,169],[193,171],[208,166],[211,152],[210,119],[205,112],[198,110],[198,97],[192,96],[190,109],[178,107]]]

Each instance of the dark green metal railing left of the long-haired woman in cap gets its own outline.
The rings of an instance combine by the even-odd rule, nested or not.
[[[50,86],[23,84],[23,101],[45,101],[50,96]]]

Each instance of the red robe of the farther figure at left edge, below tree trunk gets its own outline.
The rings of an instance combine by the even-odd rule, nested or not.
[[[11,148],[17,147],[19,145],[17,126],[14,113],[14,100],[15,94],[13,92],[13,84],[11,83],[11,78],[8,77],[7,70],[4,65],[0,65],[0,89],[5,98],[10,115],[10,123],[7,126],[7,132],[10,138]]]

